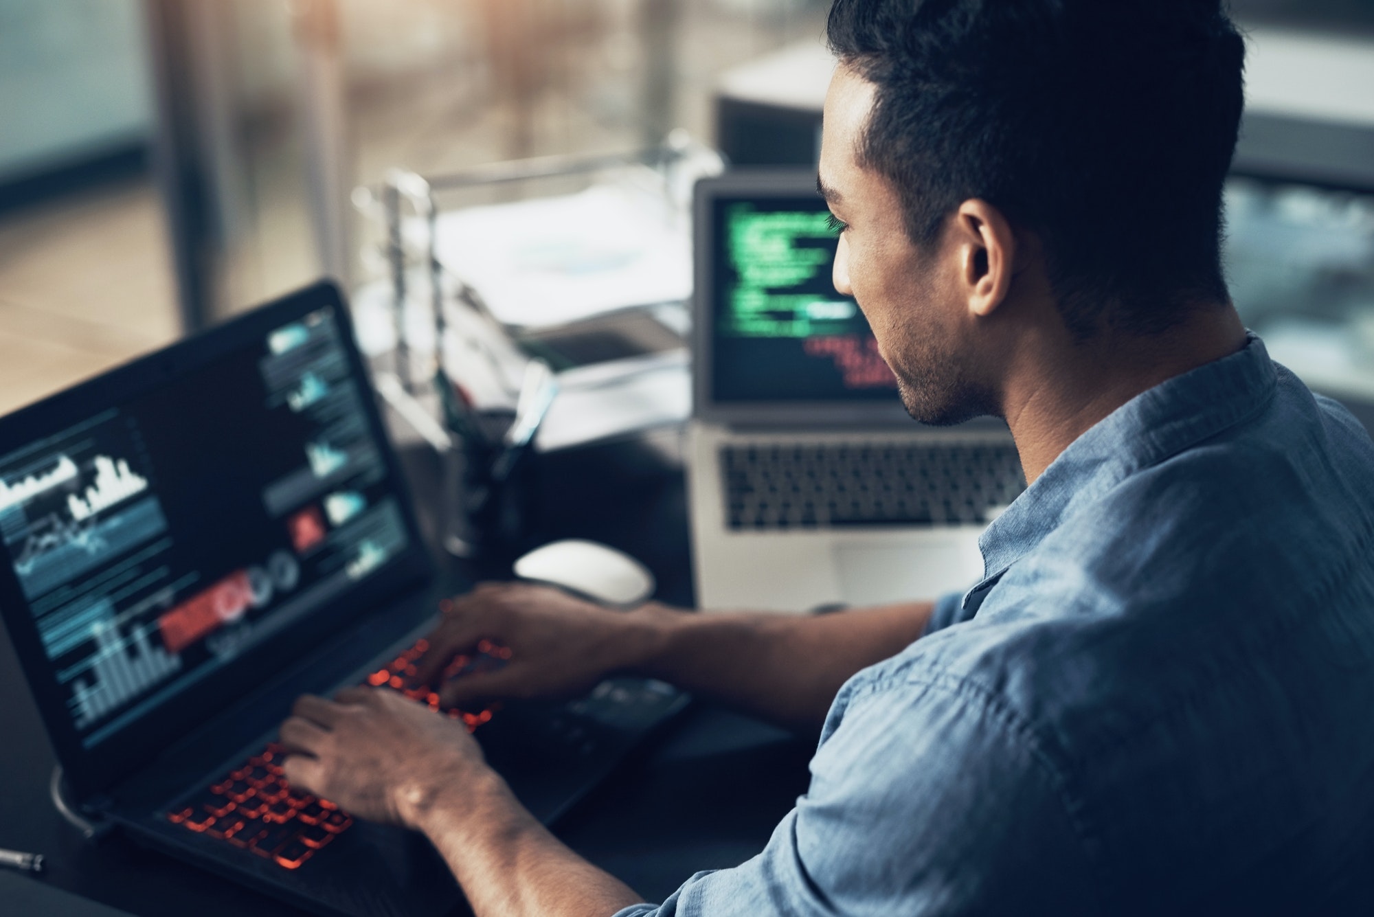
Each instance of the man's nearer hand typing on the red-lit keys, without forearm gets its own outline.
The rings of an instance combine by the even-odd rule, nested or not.
[[[445,789],[499,780],[462,722],[385,689],[301,697],[282,723],[282,744],[291,785],[407,828],[418,828]]]

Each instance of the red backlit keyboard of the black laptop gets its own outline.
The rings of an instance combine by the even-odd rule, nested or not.
[[[418,641],[387,666],[371,673],[365,684],[400,690],[416,703],[438,710],[438,695],[412,686],[415,662],[429,649]],[[481,641],[474,656],[458,656],[445,670],[452,678],[473,671],[497,669],[510,659],[510,649]],[[470,712],[449,710],[469,732],[491,721],[493,707]],[[207,788],[168,813],[168,821],[206,837],[216,837],[253,852],[282,869],[300,869],[353,825],[353,818],[327,799],[319,799],[286,782],[282,761],[286,748],[271,743]]]

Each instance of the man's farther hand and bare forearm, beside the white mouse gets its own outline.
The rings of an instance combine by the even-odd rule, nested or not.
[[[808,732],[856,671],[916,640],[932,604],[837,615],[682,614],[658,603],[610,611],[550,586],[486,583],[445,604],[416,663],[445,707],[500,697],[576,696],[613,673],[661,678],[698,697]],[[510,662],[444,682],[482,640]]]

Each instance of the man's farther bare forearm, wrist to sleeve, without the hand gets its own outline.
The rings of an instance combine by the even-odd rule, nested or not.
[[[901,652],[930,620],[932,603],[830,615],[687,614],[646,605],[640,674],[790,728],[819,728],[841,685]]]

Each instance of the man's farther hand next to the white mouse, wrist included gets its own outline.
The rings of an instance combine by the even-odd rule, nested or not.
[[[508,647],[496,671],[470,673],[441,684],[455,656],[481,640]],[[416,678],[438,686],[444,707],[495,697],[574,696],[589,690],[647,652],[653,627],[640,612],[609,611],[550,586],[484,583],[444,605],[444,622],[429,637]]]

